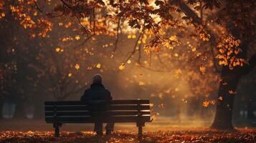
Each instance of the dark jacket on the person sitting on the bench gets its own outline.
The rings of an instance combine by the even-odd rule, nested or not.
[[[103,84],[91,84],[90,89],[86,89],[82,95],[81,101],[87,102],[92,100],[112,100],[111,94],[108,89],[105,89]]]

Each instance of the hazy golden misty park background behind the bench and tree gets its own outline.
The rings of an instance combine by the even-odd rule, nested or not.
[[[147,66],[137,63],[134,58],[137,54],[125,61],[136,41],[133,35],[138,36],[133,31],[128,33],[132,38],[127,34],[120,36],[114,55],[115,37],[111,36],[96,36],[75,47],[84,37],[75,24],[70,25],[74,26],[71,29],[65,28],[69,25],[55,21],[46,39],[31,39],[16,21],[1,21],[1,130],[51,129],[52,124],[44,122],[44,102],[80,100],[94,74],[103,75],[103,84],[113,99],[149,99],[154,119],[148,124],[150,129],[210,126],[216,104],[205,107],[203,102],[216,101],[218,74],[208,71],[208,77],[201,75],[200,79],[191,82],[189,69],[183,69],[179,62],[164,59],[170,70],[158,71],[163,69],[163,64],[156,56],[149,57],[143,51],[141,62]],[[237,89],[233,114],[236,127],[251,127],[256,117],[255,76],[254,69],[242,78]],[[199,80],[210,77],[212,92],[195,94],[192,91],[192,87],[204,89],[209,82],[202,84]],[[65,91],[62,93],[57,88],[65,88]],[[90,129],[91,125],[88,126]],[[117,129],[126,129],[125,126],[122,128],[120,124]],[[66,130],[80,128],[80,125],[64,125]],[[136,129],[135,125],[133,128]]]

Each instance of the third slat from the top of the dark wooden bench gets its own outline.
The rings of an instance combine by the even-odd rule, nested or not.
[[[113,116],[113,115],[136,115],[138,114],[137,111],[135,112],[126,112],[126,111],[121,111],[121,112],[113,112],[113,111],[107,111],[107,112],[60,112],[57,111],[57,116],[90,116],[94,114],[100,114],[102,116]],[[150,111],[143,111],[141,114],[150,114]],[[54,112],[45,112],[45,116],[54,116]]]

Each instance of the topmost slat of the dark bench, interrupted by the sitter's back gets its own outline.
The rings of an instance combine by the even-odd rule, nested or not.
[[[131,99],[131,100],[112,100],[108,102],[108,104],[149,104],[148,99]],[[80,101],[61,101],[61,102],[44,102],[45,105],[84,105],[86,102],[80,102]]]

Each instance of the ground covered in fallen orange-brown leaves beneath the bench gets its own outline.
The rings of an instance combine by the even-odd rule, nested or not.
[[[144,132],[143,139],[136,132],[114,132],[111,137],[95,137],[93,132],[61,132],[61,137],[53,137],[53,132],[0,132],[0,142],[256,142],[255,130],[222,132],[214,130],[184,130]]]

